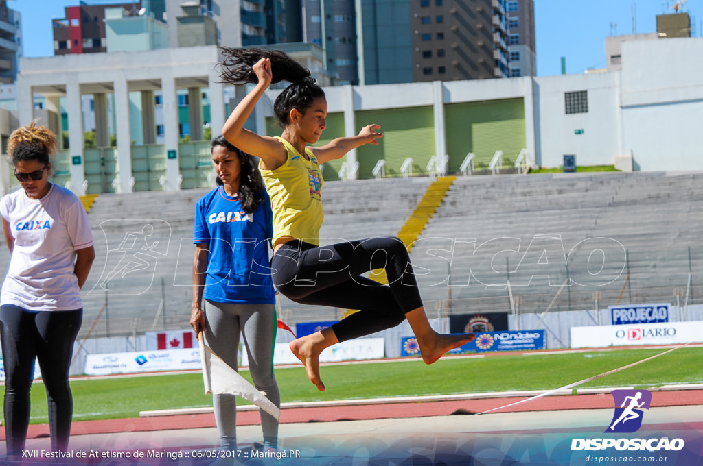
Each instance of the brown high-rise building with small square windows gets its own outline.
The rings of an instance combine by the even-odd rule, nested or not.
[[[505,0],[411,0],[413,81],[508,76]]]

